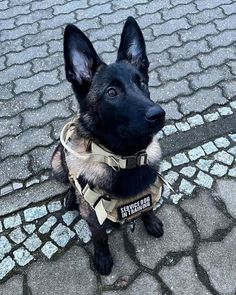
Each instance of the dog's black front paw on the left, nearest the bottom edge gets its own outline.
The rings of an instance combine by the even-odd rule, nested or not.
[[[109,275],[113,266],[111,253],[96,251],[94,254],[94,267],[101,275]]]

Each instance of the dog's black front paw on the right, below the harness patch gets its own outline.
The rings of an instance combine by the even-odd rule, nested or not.
[[[156,238],[160,238],[163,235],[163,223],[153,213],[153,211],[144,213],[142,216],[142,220],[146,228],[146,231],[149,235],[154,236]]]

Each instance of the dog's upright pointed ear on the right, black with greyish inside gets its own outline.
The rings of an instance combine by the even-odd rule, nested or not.
[[[148,74],[149,61],[141,29],[135,19],[129,16],[125,22],[118,50],[117,61],[127,60],[145,75]]]

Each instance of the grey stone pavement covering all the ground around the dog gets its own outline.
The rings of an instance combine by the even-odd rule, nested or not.
[[[165,234],[138,222],[110,234],[114,268],[92,266],[90,232],[65,212],[50,157],[77,108],[65,81],[63,29],[86,32],[114,61],[123,23],[141,26],[150,87],[167,112],[158,134]],[[0,293],[236,292],[236,1],[2,0],[0,2]]]

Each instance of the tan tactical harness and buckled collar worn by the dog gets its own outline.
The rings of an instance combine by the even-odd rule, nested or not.
[[[115,155],[104,147],[95,144],[94,142],[84,141],[85,146],[90,145],[91,152],[78,153],[73,150],[69,145],[72,134],[75,132],[75,125],[72,122],[67,123],[62,129],[60,140],[65,150],[72,153],[75,157],[81,160],[88,160],[92,155],[92,160],[102,162],[116,171],[120,169],[132,169],[137,166],[147,164],[147,154],[143,150],[133,156],[122,157]],[[86,149],[87,150],[87,149]],[[143,212],[150,210],[159,201],[162,193],[163,182],[166,181],[158,174],[155,182],[150,185],[145,191],[132,196],[128,199],[114,199],[108,196],[106,192],[100,191],[97,188],[91,189],[87,184],[83,189],[78,182],[78,172],[69,169],[69,178],[72,185],[79,191],[80,195],[89,203],[95,210],[98,221],[103,224],[106,218],[113,222],[123,223],[129,222],[139,217]],[[169,186],[169,184],[167,184]]]

